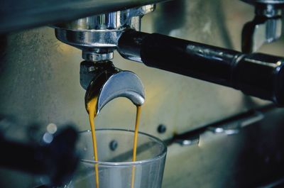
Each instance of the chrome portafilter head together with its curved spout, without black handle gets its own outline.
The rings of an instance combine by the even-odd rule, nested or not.
[[[58,23],[55,35],[62,43],[82,50],[86,61],[80,66],[80,84],[87,90],[85,105],[97,99],[97,114],[112,99],[124,96],[142,105],[145,92],[141,80],[130,71],[119,70],[110,61],[118,40],[126,29],[140,31],[141,18],[154,11],[155,5],[124,9]]]

